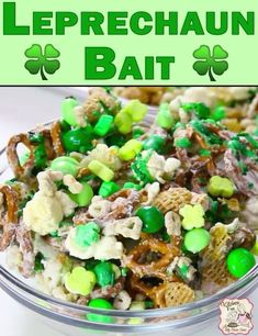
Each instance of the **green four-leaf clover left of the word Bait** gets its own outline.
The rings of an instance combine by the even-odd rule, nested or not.
[[[33,44],[24,54],[31,58],[25,63],[25,69],[32,75],[41,72],[43,80],[47,80],[45,72],[53,75],[60,67],[59,60],[54,59],[58,58],[60,53],[52,44],[45,46],[44,53],[41,45]]]

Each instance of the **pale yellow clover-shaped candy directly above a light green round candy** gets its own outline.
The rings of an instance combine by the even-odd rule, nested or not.
[[[187,204],[179,210],[179,214],[183,217],[182,227],[184,229],[204,226],[204,210],[201,204]]]

